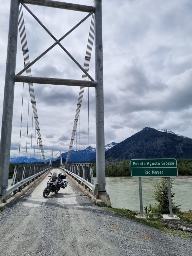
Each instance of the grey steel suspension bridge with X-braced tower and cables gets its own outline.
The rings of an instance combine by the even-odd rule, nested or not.
[[[83,19],[81,19],[72,29],[65,33],[59,39],[51,33],[48,28],[41,22],[40,17],[37,17],[30,6],[36,5],[37,7],[50,7],[58,8],[60,10],[80,11],[88,13]],[[53,39],[54,43],[47,48],[43,53],[37,56],[34,60],[30,61],[30,50],[28,49],[28,38],[26,36],[26,28],[24,22],[24,10],[28,12]],[[86,20],[90,20],[89,36],[87,42],[87,50],[84,56],[84,66],[81,66],[79,62],[72,56],[71,53],[63,46],[62,40],[66,38],[71,32],[79,27]],[[17,56],[17,39],[18,34],[21,40],[21,51],[23,53],[24,68],[16,73],[16,56]],[[92,78],[89,72],[89,63],[91,59],[92,48],[95,38],[95,80]],[[58,45],[64,53],[75,63],[75,65],[83,72],[81,80],[65,79],[65,78],[53,78],[53,77],[36,77],[32,76],[33,64],[40,60],[46,53],[51,51],[56,45]],[[15,75],[16,74],[16,75]],[[9,165],[10,165],[10,151],[11,151],[11,131],[12,131],[12,119],[13,119],[13,99],[14,99],[14,86],[15,82],[23,83],[22,91],[22,104],[21,104],[21,123],[19,134],[19,152],[18,163],[15,165],[14,175],[11,183],[11,187],[8,188],[9,177]],[[74,118],[74,125],[72,128],[72,136],[69,144],[69,150],[65,164],[62,162],[60,150],[52,150],[52,156],[49,165],[46,162],[45,151],[43,148],[43,136],[41,135],[39,117],[36,107],[35,92],[33,84],[46,84],[46,85],[68,85],[78,86],[79,97],[77,101],[76,113]],[[21,134],[22,134],[22,121],[23,121],[23,101],[24,101],[24,88],[25,84],[29,86],[28,95],[28,113],[27,113],[27,134],[26,134],[26,151],[24,163],[20,163],[20,148],[21,148]],[[84,108],[83,96],[85,87],[95,88],[96,98],[96,170],[97,178],[96,184],[94,184],[93,171],[91,164],[82,164],[69,162],[70,154],[75,148],[75,139],[77,144],[77,132],[78,126],[80,126],[80,111]],[[89,97],[89,91],[88,91]],[[70,99],[69,99],[70,100]],[[32,105],[32,128],[30,132],[30,101]],[[60,167],[69,175],[75,176],[74,179],[78,180],[89,191],[95,193],[96,198],[106,198],[106,202],[110,204],[109,195],[105,188],[105,144],[104,144],[104,103],[103,103],[103,56],[102,56],[102,11],[101,1],[95,0],[94,6],[85,6],[79,4],[70,4],[58,1],[44,1],[44,0],[11,0],[10,7],[10,21],[9,21],[9,33],[8,33],[8,50],[7,50],[7,63],[5,74],[5,90],[4,90],[4,104],[2,113],[2,129],[1,129],[1,143],[0,143],[0,199],[6,202],[11,195],[14,195],[16,191],[21,191],[25,186],[29,185],[31,181],[34,181],[39,175],[52,168],[53,161],[60,159]],[[84,127],[83,127],[84,129]],[[84,135],[84,130],[83,130]],[[80,136],[80,133],[78,134]],[[30,137],[30,138],[29,138]],[[76,137],[76,138],[75,138]],[[31,147],[30,152],[28,144]],[[89,148],[89,99],[88,99],[88,148]],[[84,147],[84,137],[83,137]],[[34,151],[34,154],[33,154]],[[57,155],[59,154],[59,155]],[[27,157],[30,159],[30,163],[27,163]],[[33,159],[32,159],[33,157]],[[87,183],[88,182],[88,183]]]

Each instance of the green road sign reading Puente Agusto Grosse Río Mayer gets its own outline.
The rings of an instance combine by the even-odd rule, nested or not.
[[[176,159],[132,159],[132,177],[177,177]]]

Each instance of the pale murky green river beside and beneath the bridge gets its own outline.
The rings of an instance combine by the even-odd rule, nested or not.
[[[94,178],[96,182],[96,178]],[[143,208],[154,204],[154,183],[160,178],[142,178]],[[11,185],[9,179],[8,186]],[[133,177],[106,177],[106,189],[113,207],[140,211],[139,179]],[[181,204],[181,211],[192,209],[192,178],[177,178],[174,180],[172,192],[174,200]]]

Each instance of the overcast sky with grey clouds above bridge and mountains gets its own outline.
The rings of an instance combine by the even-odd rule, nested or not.
[[[63,1],[64,2],[64,1]],[[69,1],[93,6],[93,0]],[[103,0],[103,65],[105,144],[121,142],[145,126],[168,129],[192,138],[192,2],[191,0]],[[60,38],[87,13],[28,5]],[[10,1],[0,9],[0,122],[8,39]],[[23,8],[30,60],[54,41]],[[91,18],[62,44],[83,66]],[[16,73],[24,67],[20,36]],[[89,74],[95,78],[94,47]],[[33,76],[81,79],[82,71],[56,46],[32,67]],[[45,157],[67,152],[73,130],[79,87],[33,84]],[[15,83],[11,157],[18,156],[23,84]],[[20,155],[25,156],[28,84],[24,84]],[[77,126],[77,150],[88,146],[88,89]],[[81,108],[82,109],[82,108]],[[83,124],[84,119],[84,124]],[[95,89],[89,89],[89,141],[96,147]],[[1,129],[1,123],[0,123]],[[80,130],[80,146],[79,133]],[[82,131],[84,129],[84,141]],[[27,156],[31,154],[30,103]],[[34,134],[32,156],[34,156]],[[75,136],[76,139],[76,136]],[[36,151],[35,151],[36,157]]]

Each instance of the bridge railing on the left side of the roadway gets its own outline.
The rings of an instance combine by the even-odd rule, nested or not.
[[[40,175],[52,169],[50,164],[16,164],[11,182],[11,187],[3,190],[2,199],[6,201],[8,197],[21,191]]]

